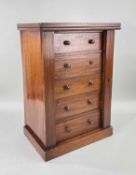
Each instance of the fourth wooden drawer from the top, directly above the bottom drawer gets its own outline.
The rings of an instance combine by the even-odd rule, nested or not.
[[[99,108],[100,93],[87,93],[56,100],[56,119]]]

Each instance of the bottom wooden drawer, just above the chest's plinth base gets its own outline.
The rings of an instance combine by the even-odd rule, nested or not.
[[[56,139],[61,141],[97,129],[100,126],[99,123],[99,112],[82,114],[76,119],[57,124]]]

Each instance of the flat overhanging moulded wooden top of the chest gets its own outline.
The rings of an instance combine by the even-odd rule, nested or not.
[[[120,23],[20,23],[19,30],[119,30]]]

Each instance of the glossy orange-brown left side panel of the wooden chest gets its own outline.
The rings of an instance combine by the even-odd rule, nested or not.
[[[45,145],[44,67],[40,32],[21,32],[25,126]]]

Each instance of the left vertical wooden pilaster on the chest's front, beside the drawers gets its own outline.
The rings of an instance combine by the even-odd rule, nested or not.
[[[53,36],[53,32],[42,33],[42,50],[45,66],[46,147],[52,147],[56,144]]]

